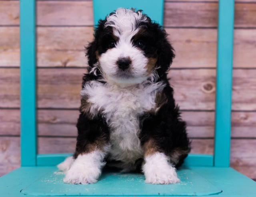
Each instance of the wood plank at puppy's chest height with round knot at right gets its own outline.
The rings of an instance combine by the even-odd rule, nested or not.
[[[39,108],[78,108],[85,68],[38,69]],[[256,70],[234,69],[233,110],[256,110]],[[174,97],[182,110],[214,110],[215,69],[169,72]],[[19,69],[0,69],[0,107],[19,107]],[[244,96],[246,95],[246,97]]]

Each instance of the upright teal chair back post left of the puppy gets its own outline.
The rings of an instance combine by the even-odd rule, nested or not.
[[[21,165],[36,165],[35,1],[20,0]]]

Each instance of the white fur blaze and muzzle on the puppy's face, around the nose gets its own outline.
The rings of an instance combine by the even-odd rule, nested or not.
[[[98,56],[98,66],[104,79],[108,83],[116,83],[123,87],[142,83],[150,75],[147,69],[149,59],[144,51],[134,46],[132,38],[141,28],[137,25],[140,22],[146,22],[146,16],[141,12],[119,8],[106,20],[104,27],[112,27],[113,36],[117,38],[117,41],[115,41],[115,47]],[[125,71],[118,68],[118,59],[122,58],[131,61]]]

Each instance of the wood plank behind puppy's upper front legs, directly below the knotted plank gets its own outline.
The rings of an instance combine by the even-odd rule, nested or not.
[[[76,136],[77,110],[38,110],[39,136]],[[187,123],[191,138],[214,137],[214,112],[184,111],[182,118]],[[256,112],[232,112],[232,138],[256,138]],[[20,134],[20,111],[0,110],[0,135]]]

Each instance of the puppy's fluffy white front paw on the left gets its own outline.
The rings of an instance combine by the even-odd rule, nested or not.
[[[100,150],[78,155],[70,169],[66,171],[63,181],[69,184],[96,183],[105,165],[104,156],[105,153]]]

